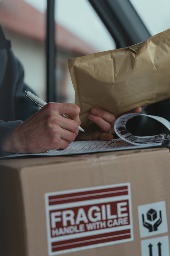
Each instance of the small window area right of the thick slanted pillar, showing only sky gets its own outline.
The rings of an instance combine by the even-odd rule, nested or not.
[[[169,0],[130,0],[130,2],[152,36],[170,28]]]

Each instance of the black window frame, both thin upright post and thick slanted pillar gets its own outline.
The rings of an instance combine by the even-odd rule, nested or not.
[[[47,0],[46,88],[47,102],[55,102],[55,1]],[[151,35],[129,0],[88,0],[113,37],[116,48],[147,40]],[[128,31],[128,32],[127,32]]]

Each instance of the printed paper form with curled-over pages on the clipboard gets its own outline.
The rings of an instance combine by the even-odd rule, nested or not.
[[[24,156],[61,156],[61,155],[74,155],[74,154],[85,154],[85,153],[97,153],[97,152],[108,152],[116,150],[128,150],[135,148],[147,148],[153,146],[168,146],[169,135],[168,134],[159,134],[153,136],[143,136],[138,137],[134,136],[129,131],[126,130],[127,121],[137,115],[130,113],[121,116],[115,122],[114,129],[116,134],[120,137],[119,139],[113,139],[112,141],[73,141],[66,149],[55,149],[49,150],[44,153],[35,153],[35,154],[13,154],[0,158],[9,158],[9,157],[24,157]],[[153,119],[158,120],[163,123],[170,131],[170,123],[159,116],[150,116]]]

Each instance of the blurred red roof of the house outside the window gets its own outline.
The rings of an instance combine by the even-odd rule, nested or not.
[[[46,14],[23,0],[0,1],[0,24],[16,34],[41,42],[45,40]],[[58,24],[55,25],[55,31],[57,45],[63,50],[82,55],[97,51]]]

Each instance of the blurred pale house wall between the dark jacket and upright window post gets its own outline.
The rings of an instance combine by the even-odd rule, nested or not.
[[[25,83],[46,100],[45,44],[4,30],[12,50],[23,65]]]

